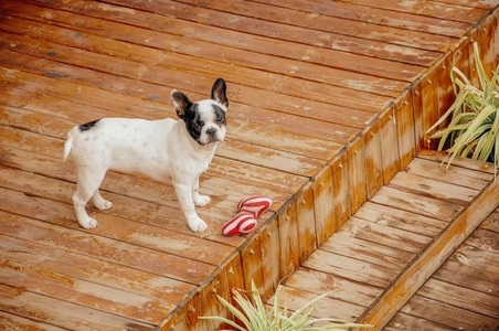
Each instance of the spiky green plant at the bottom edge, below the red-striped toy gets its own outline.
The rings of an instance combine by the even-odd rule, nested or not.
[[[219,297],[220,302],[241,321],[244,327],[238,325],[234,321],[223,317],[201,317],[201,319],[215,320],[227,325],[231,325],[235,330],[240,331],[320,331],[320,330],[344,330],[349,328],[370,328],[367,324],[357,323],[342,323],[341,321],[332,318],[311,318],[311,312],[316,305],[331,292],[318,296],[314,300],[304,305],[295,312],[288,311],[286,302],[284,308],[280,308],[283,286],[279,285],[274,295],[274,306],[270,310],[267,310],[265,303],[258,293],[255,282],[252,281],[252,290],[250,298],[244,291],[233,290],[234,300],[241,307],[240,309],[233,306],[227,300]]]

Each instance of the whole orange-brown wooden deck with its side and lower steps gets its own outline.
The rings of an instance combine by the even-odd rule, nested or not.
[[[372,259],[353,264],[363,278],[346,277],[342,285],[354,287],[338,292],[359,296],[340,300],[354,308],[349,319],[414,325],[407,321],[427,313],[414,307],[435,300],[433,290],[468,293],[456,278],[454,287],[438,282],[445,271],[432,274],[473,232],[467,220],[478,226],[497,207],[498,184],[490,170],[466,163],[449,172],[463,174],[456,188],[442,179],[437,156],[421,150],[452,102],[450,67],[475,77],[471,42],[487,70],[497,66],[498,17],[493,0],[1,1],[0,325],[213,330],[198,317],[226,313],[215,295],[229,298],[254,279],[269,298],[317,256],[333,267],[329,257],[370,250]],[[212,203],[198,210],[210,229],[189,231],[171,186],[116,172],[103,186],[115,207],[88,207],[99,226],[81,228],[71,204],[73,164],[61,160],[67,131],[99,117],[174,117],[172,88],[204,98],[220,76],[229,85],[229,132],[201,179]],[[433,189],[452,200],[438,211],[446,218],[416,204],[445,201],[423,192],[439,192]],[[401,210],[418,215],[421,227],[376,229],[384,224],[359,216],[389,205],[376,199],[399,201],[399,191],[415,204]],[[255,194],[272,197],[273,209],[251,235],[224,237],[237,202]],[[485,228],[497,239],[497,228]],[[365,237],[335,234],[354,229]],[[421,274],[425,253],[434,259]],[[487,266],[497,248],[484,255]],[[381,266],[379,256],[386,257]],[[425,284],[412,299],[418,286],[397,291],[411,281]],[[497,319],[497,292],[486,295],[491,313],[479,313]]]

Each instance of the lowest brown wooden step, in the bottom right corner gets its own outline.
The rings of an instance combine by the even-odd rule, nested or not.
[[[497,330],[499,207],[450,255],[384,330]]]

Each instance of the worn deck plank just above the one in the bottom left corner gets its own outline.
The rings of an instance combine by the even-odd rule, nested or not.
[[[73,302],[33,293],[26,289],[0,284],[0,308],[8,313],[21,313],[32,320],[50,321],[60,328],[94,330],[153,330],[153,325],[114,313],[103,313]]]

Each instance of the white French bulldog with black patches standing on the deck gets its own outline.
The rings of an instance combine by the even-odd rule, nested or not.
[[[70,131],[64,160],[72,153],[77,180],[73,204],[83,227],[97,226],[97,221],[85,211],[91,199],[99,210],[113,207],[98,191],[110,169],[171,182],[189,227],[193,232],[208,228],[195,212],[195,206],[210,203],[210,196],[199,193],[199,178],[225,138],[226,84],[216,79],[211,99],[192,103],[177,89],[171,92],[171,99],[180,120],[103,118]]]

